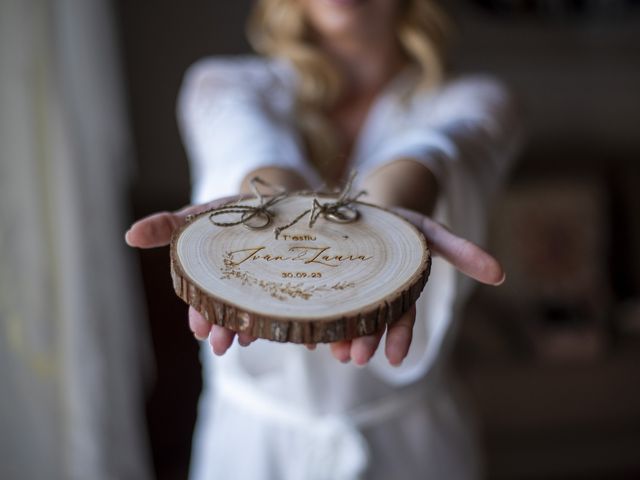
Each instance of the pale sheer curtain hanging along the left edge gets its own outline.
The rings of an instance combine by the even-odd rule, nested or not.
[[[0,478],[145,479],[107,0],[0,0]]]

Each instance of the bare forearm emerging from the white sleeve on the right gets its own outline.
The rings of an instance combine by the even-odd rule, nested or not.
[[[438,182],[423,164],[401,158],[382,165],[364,179],[367,201],[403,207],[431,215],[438,198]]]

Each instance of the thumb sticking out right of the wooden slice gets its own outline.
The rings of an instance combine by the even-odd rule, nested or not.
[[[469,240],[454,235],[438,222],[420,213],[395,209],[424,233],[429,248],[465,275],[488,285],[500,285],[505,273],[500,262]]]

